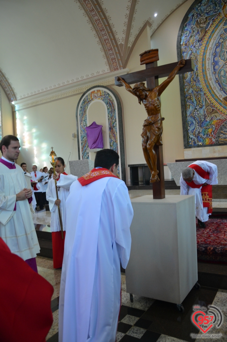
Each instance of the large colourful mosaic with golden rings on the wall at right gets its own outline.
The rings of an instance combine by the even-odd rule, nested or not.
[[[227,144],[227,0],[195,1],[182,28],[187,147]]]

